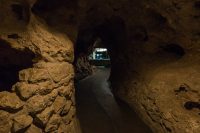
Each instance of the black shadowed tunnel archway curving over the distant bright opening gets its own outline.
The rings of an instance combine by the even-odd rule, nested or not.
[[[91,53],[98,38],[101,39],[103,47],[108,49],[110,55],[111,80],[112,76],[116,78],[115,74],[119,74],[118,72],[123,68],[123,65],[127,65],[126,59],[124,59],[126,56],[122,54],[128,42],[124,20],[119,16],[112,16],[94,27],[81,25],[75,45],[75,63],[80,56],[79,54],[88,56],[88,53]]]

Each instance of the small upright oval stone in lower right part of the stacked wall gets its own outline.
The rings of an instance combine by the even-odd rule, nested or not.
[[[65,97],[57,96],[56,100],[53,103],[53,108],[55,113],[60,114],[66,104]]]

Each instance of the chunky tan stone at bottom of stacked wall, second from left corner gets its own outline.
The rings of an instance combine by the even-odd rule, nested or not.
[[[19,115],[14,117],[12,126],[13,132],[19,132],[26,129],[32,124],[32,121],[33,118],[29,115]]]

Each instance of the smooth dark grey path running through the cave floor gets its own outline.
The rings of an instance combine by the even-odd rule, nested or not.
[[[76,84],[82,133],[151,133],[127,105],[115,100],[107,83],[109,74],[109,69],[99,68]]]

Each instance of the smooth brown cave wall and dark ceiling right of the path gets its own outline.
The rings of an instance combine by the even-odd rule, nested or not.
[[[83,3],[80,29],[110,50],[115,96],[156,133],[198,133],[199,1]]]

